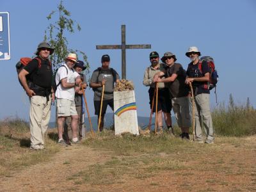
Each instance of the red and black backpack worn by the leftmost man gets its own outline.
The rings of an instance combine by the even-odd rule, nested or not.
[[[30,63],[32,60],[37,60],[38,61],[38,68],[41,67],[41,60],[37,57],[33,58],[33,59],[32,58],[20,58],[20,61],[18,61],[18,63],[15,65],[18,76],[19,76],[20,71],[25,66],[27,66],[28,63]],[[49,65],[51,66],[51,61],[49,61]],[[28,83],[29,88],[31,88],[31,84],[33,83],[32,82],[33,79],[31,78],[31,76],[32,76],[32,74],[28,74],[28,76],[26,76],[26,81]],[[23,87],[22,83],[20,82],[19,77],[18,77],[18,80],[19,80],[20,85]]]

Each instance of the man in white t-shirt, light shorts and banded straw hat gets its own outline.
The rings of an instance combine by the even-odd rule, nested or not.
[[[71,116],[71,129],[72,129],[72,143],[77,143],[77,111],[74,102],[75,92],[79,91],[79,83],[81,78],[76,70],[73,69],[77,62],[75,53],[68,54],[65,59],[65,64],[58,68],[56,73],[56,98],[57,98],[57,129],[58,129],[58,143],[67,146],[63,140],[63,124],[67,116]]]

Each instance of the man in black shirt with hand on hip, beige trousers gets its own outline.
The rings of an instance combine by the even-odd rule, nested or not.
[[[31,149],[44,148],[44,134],[47,131],[51,116],[52,67],[49,56],[54,49],[41,42],[36,49],[36,58],[28,63],[19,73],[20,83],[29,96],[30,113],[29,127],[31,133]],[[29,77],[29,85],[26,81]]]

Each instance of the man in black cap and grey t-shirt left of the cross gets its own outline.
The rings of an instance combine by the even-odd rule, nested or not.
[[[92,78],[90,80],[90,87],[93,88],[94,97],[94,109],[95,115],[98,116],[98,122],[100,118],[100,131],[104,129],[104,116],[108,106],[114,110],[113,91],[114,84],[119,81],[118,73],[109,67],[110,57],[108,54],[104,54],[101,57],[101,67],[93,71]],[[102,87],[105,84],[104,95],[102,101],[102,113],[100,115],[100,100],[102,95]]]

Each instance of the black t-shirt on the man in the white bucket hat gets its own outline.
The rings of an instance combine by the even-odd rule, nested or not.
[[[199,68],[198,68],[198,63],[196,63],[196,65],[193,65],[193,62],[189,63],[188,65],[188,70],[187,70],[187,76],[188,77],[204,77],[204,75],[206,73],[211,72],[211,68],[209,67],[209,65],[207,64],[206,61],[202,62],[202,72],[200,72]],[[205,88],[205,86],[207,86],[208,82],[207,81],[193,81],[192,86],[193,86],[193,90],[194,90],[194,94],[198,95],[200,93],[210,93],[208,88]]]

